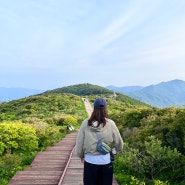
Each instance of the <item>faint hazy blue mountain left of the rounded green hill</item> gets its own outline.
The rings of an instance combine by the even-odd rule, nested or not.
[[[0,87],[0,102],[17,100],[27,96],[35,95],[43,92],[42,90],[26,89],[26,88],[6,88]]]

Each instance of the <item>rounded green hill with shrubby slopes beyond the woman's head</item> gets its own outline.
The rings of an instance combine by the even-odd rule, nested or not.
[[[87,97],[93,103],[95,98],[101,96],[107,99],[113,109],[118,107],[143,107],[147,104],[130,98],[121,93],[116,96],[113,91],[92,84],[78,84],[26,98],[3,102],[0,104],[0,121],[20,120],[27,117],[46,119],[62,114],[71,114],[85,117],[85,109],[81,97]]]

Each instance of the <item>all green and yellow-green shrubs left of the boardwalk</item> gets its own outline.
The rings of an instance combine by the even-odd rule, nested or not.
[[[68,125],[86,117],[83,101],[72,94],[48,94],[0,104],[0,184],[29,165],[40,150],[62,139]]]

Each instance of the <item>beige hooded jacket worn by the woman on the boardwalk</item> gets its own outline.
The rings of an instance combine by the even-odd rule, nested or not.
[[[99,132],[102,141],[109,146],[115,147],[117,152],[123,150],[123,140],[119,133],[119,130],[114,121],[106,119],[106,125],[99,127],[97,122],[93,123],[93,126],[88,126],[88,119],[82,122],[80,130],[76,139],[75,151],[78,157],[83,158],[85,154],[100,155],[97,151],[97,136],[96,132]]]

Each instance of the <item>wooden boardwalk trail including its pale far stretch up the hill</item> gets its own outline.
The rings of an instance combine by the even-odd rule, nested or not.
[[[82,98],[88,116],[93,109]],[[83,185],[83,163],[75,154],[78,132],[67,134],[54,146],[39,152],[29,168],[18,171],[8,185]],[[115,178],[113,185],[118,185]]]

